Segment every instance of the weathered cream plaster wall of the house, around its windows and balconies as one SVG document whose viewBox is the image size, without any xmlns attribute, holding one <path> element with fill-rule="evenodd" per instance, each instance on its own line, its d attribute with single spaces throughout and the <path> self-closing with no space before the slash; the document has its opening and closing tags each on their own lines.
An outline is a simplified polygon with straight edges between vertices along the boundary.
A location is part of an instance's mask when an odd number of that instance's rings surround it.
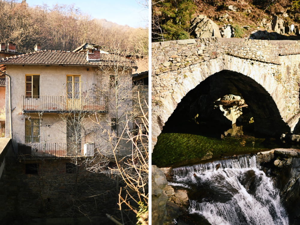
<svg viewBox="0 0 300 225">
<path fill-rule="evenodd" d="M 40 75 L 40 96 L 64 96 L 66 95 L 67 75 L 80 75 L 82 93 L 88 92 L 93 88 L 93 84 L 98 87 L 102 86 L 103 76 L 97 72 L 97 67 L 80 67 L 80 66 L 37 66 L 37 65 L 7 65 L 6 73 L 10 75 L 6 77 L 6 137 L 10 137 L 10 94 L 11 94 L 11 122 L 12 122 L 12 141 L 15 150 L 18 149 L 18 143 L 25 143 L 25 120 L 30 117 L 38 119 L 38 113 L 23 112 L 23 97 L 25 95 L 25 75 Z M 128 73 L 131 77 L 131 73 Z M 89 95 L 92 95 L 90 93 Z M 131 103 L 132 104 L 132 103 Z M 65 143 L 66 142 L 66 126 L 64 121 L 60 119 L 60 113 L 44 113 L 42 125 L 44 133 L 40 129 L 40 141 L 47 140 L 47 143 Z M 92 117 L 93 118 L 93 117 Z M 94 118 L 95 120 L 95 118 Z M 88 125 L 88 123 L 90 125 Z M 91 120 L 86 119 L 87 126 L 91 125 Z M 49 125 L 49 126 L 48 126 Z M 105 123 L 101 123 L 107 130 L 111 128 Z M 120 128 L 121 129 L 121 128 Z M 84 135 L 84 134 L 83 134 Z M 85 142 L 93 141 L 89 137 L 83 136 Z"/>
</svg>

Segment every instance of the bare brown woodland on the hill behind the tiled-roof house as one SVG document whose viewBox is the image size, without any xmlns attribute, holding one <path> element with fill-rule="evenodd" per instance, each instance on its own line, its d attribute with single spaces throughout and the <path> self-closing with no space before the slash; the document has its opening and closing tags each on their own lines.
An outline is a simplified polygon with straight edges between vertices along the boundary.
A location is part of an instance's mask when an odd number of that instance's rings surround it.
<svg viewBox="0 0 300 225">
<path fill-rule="evenodd" d="M 16 43 L 19 52 L 32 51 L 36 43 L 42 50 L 73 51 L 82 43 L 109 46 L 115 40 L 122 49 L 148 55 L 148 27 L 94 19 L 74 4 L 30 7 L 26 0 L 0 0 L 0 21 L 0 41 Z"/>
</svg>

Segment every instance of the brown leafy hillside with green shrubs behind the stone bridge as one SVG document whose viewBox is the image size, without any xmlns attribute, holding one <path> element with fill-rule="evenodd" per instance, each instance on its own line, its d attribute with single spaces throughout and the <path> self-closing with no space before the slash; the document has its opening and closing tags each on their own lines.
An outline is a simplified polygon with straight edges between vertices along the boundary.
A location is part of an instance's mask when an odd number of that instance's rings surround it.
<svg viewBox="0 0 300 225">
<path fill-rule="evenodd" d="M 272 19 L 279 15 L 285 26 L 295 26 L 293 38 L 299 39 L 300 0 L 152 0 L 152 42 L 195 38 L 190 21 L 197 15 L 219 28 L 230 23 L 238 38 L 257 30 L 271 32 Z"/>
</svg>

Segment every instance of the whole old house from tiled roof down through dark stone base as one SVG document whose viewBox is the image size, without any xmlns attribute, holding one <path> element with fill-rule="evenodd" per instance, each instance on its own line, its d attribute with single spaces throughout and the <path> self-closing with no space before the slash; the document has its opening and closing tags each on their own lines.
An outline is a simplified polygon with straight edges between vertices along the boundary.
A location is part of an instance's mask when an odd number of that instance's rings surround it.
<svg viewBox="0 0 300 225">
<path fill-rule="evenodd" d="M 116 181 L 82 165 L 77 168 L 70 156 L 101 158 L 98 153 L 105 152 L 95 136 L 76 122 L 80 113 L 84 113 L 85 124 L 93 123 L 95 113 L 107 117 L 112 123 L 101 123 L 102 128 L 116 132 L 107 96 L 93 92 L 107 76 L 98 73 L 98 67 L 114 61 L 137 67 L 98 46 L 89 46 L 85 52 L 64 52 L 41 50 L 37 44 L 35 52 L 0 61 L 6 69 L 2 71 L 6 77 L 5 137 L 12 140 L 0 180 L 0 202 L 5 205 L 0 208 L 0 221 L 73 218 L 82 216 L 80 210 L 98 217 L 112 212 L 118 194 L 112 191 Z M 126 76 L 132 79 L 131 70 Z M 79 210 L 75 202 L 89 208 Z"/>
</svg>

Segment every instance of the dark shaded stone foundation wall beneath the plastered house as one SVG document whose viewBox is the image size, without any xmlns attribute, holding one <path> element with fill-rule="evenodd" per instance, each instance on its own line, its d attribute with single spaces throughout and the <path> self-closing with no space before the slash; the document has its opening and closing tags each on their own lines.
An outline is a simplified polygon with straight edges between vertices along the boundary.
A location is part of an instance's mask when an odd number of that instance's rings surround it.
<svg viewBox="0 0 300 225">
<path fill-rule="evenodd" d="M 70 161 L 45 160 L 41 168 L 39 161 L 42 173 L 38 176 L 25 173 L 24 161 L 8 157 L 0 180 L 0 221 L 11 224 L 30 218 L 74 218 L 82 217 L 83 213 L 88 216 L 112 213 L 116 181 L 81 167 L 76 196 L 76 173 L 66 173 L 67 162 Z"/>
</svg>

